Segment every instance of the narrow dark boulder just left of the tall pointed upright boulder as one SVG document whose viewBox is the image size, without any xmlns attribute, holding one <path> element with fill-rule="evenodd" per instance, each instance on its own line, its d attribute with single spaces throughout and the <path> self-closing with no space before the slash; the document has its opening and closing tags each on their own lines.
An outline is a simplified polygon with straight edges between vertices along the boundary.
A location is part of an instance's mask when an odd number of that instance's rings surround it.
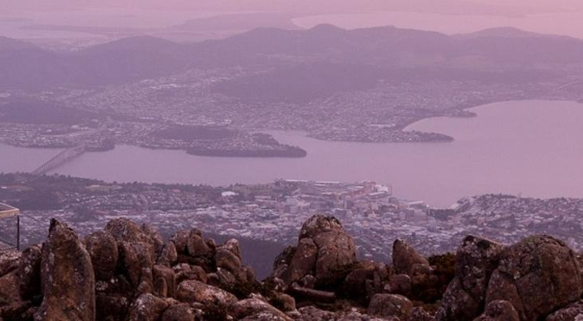
<svg viewBox="0 0 583 321">
<path fill-rule="evenodd" d="M 40 245 L 33 245 L 22 252 L 22 258 L 18 264 L 18 280 L 20 296 L 23 299 L 32 299 L 40 295 L 40 267 L 42 252 Z"/>
</svg>

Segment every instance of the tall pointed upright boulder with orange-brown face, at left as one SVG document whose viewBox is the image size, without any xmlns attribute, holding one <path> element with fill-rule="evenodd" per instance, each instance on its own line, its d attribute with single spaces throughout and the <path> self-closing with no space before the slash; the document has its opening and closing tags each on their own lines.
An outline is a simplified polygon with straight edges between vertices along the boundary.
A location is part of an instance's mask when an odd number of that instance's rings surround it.
<svg viewBox="0 0 583 321">
<path fill-rule="evenodd" d="M 95 275 L 91 257 L 76 233 L 51 219 L 41 260 L 43 303 L 35 320 L 95 319 Z"/>
</svg>

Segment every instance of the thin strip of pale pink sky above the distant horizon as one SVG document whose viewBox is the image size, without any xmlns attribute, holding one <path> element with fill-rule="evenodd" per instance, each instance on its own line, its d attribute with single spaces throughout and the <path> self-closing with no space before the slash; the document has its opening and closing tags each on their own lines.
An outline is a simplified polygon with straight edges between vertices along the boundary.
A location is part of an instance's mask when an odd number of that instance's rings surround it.
<svg viewBox="0 0 583 321">
<path fill-rule="evenodd" d="M 583 9 L 581 0 L 0 0 L 0 6 L 13 9 L 189 9 L 189 10 L 283 10 L 283 11 L 496 11 L 540 12 L 557 9 Z M 496 8 L 498 7 L 498 8 Z M 518 8 L 517 8 L 518 7 Z"/>
</svg>

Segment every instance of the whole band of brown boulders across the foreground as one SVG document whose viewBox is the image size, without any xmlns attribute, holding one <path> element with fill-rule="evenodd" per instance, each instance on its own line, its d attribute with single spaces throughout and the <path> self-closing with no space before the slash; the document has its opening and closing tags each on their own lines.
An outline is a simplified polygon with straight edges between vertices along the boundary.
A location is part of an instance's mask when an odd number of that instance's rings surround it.
<svg viewBox="0 0 583 321">
<path fill-rule="evenodd" d="M 237 240 L 165 243 L 125 218 L 79 239 L 53 219 L 43 245 L 0 256 L 0 320 L 583 320 L 581 260 L 550 236 L 468 236 L 429 259 L 396 240 L 392 259 L 358 261 L 340 222 L 316 215 L 260 282 Z"/>
</svg>

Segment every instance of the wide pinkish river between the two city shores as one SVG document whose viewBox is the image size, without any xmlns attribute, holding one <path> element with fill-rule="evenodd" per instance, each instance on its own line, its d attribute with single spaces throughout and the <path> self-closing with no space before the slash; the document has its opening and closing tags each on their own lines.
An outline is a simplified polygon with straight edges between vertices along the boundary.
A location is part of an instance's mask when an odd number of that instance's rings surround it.
<svg viewBox="0 0 583 321">
<path fill-rule="evenodd" d="M 451 135 L 454 142 L 375 144 L 328 142 L 275 132 L 308 156 L 212 158 L 182 151 L 117 146 L 85 153 L 57 169 L 65 175 L 117 182 L 264 183 L 276 178 L 392 184 L 394 193 L 444 207 L 463 196 L 510 193 L 583 197 L 583 104 L 518 101 L 472 109 L 473 118 L 429 118 L 409 130 Z M 54 149 L 0 145 L 0 172 L 30 171 Z"/>
</svg>

